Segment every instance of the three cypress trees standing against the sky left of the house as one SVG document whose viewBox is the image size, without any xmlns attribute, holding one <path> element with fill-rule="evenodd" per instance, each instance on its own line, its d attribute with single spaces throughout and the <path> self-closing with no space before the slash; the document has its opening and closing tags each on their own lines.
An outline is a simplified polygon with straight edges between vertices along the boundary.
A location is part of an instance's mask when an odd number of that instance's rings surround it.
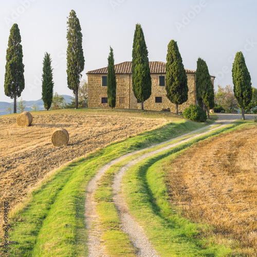
<svg viewBox="0 0 257 257">
<path fill-rule="evenodd" d="M 75 106 L 78 108 L 79 84 L 84 70 L 84 55 L 82 48 L 82 33 L 79 19 L 74 10 L 71 10 L 67 21 L 67 84 L 75 94 Z M 42 100 L 48 110 L 53 97 L 53 75 L 51 58 L 45 53 L 42 74 Z M 14 99 L 13 113 L 16 113 L 16 99 L 21 96 L 25 88 L 23 51 L 21 34 L 17 24 L 10 30 L 6 53 L 5 95 Z"/>
</svg>

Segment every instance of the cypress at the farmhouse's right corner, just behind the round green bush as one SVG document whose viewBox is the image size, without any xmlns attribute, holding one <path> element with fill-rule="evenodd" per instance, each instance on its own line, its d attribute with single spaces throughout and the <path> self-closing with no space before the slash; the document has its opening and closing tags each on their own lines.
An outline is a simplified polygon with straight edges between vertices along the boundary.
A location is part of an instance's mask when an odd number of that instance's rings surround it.
<svg viewBox="0 0 257 257">
<path fill-rule="evenodd" d="M 211 76 L 209 74 L 208 66 L 206 62 L 201 58 L 198 58 L 197 60 L 195 84 L 196 99 L 198 105 L 201 108 L 205 107 L 208 118 L 210 118 L 209 109 L 212 109 L 214 107 L 214 88 L 211 81 Z"/>
</svg>

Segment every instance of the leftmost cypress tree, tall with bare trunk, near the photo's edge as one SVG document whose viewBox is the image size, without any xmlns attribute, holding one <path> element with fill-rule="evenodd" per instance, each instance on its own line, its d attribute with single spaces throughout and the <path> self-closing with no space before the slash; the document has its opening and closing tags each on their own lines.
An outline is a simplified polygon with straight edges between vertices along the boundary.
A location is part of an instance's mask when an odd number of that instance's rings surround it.
<svg viewBox="0 0 257 257">
<path fill-rule="evenodd" d="M 13 113 L 17 111 L 16 100 L 25 87 L 21 34 L 17 24 L 10 30 L 5 66 L 5 95 L 14 99 Z"/>
</svg>

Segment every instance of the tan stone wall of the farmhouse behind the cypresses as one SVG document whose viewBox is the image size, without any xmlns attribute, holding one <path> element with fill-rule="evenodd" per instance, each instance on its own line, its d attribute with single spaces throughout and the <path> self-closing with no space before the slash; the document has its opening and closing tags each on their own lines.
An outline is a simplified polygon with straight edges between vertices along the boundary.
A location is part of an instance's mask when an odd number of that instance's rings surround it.
<svg viewBox="0 0 257 257">
<path fill-rule="evenodd" d="M 102 86 L 102 76 L 100 74 L 88 74 L 88 107 L 89 108 L 108 108 L 108 103 L 101 103 L 102 97 L 107 97 L 107 86 Z M 159 85 L 159 76 L 166 77 L 165 74 L 152 74 L 152 95 L 144 102 L 144 109 L 161 111 L 163 108 L 170 108 L 175 112 L 175 104 L 171 103 L 166 97 L 165 86 Z M 195 104 L 195 76 L 187 74 L 188 77 L 188 101 L 178 105 L 178 111 L 182 112 L 189 104 Z M 132 89 L 132 75 L 116 75 L 116 108 L 140 109 L 141 103 L 137 103 Z M 156 103 L 155 98 L 161 97 L 162 102 Z"/>
</svg>

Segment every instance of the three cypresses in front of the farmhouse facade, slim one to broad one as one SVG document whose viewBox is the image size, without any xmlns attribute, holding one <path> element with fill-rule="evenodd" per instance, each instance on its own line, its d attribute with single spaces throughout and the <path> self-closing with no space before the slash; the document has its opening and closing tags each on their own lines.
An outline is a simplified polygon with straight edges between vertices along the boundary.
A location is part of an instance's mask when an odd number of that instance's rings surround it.
<svg viewBox="0 0 257 257">
<path fill-rule="evenodd" d="M 113 49 L 111 47 L 110 49 L 107 70 L 107 95 L 108 105 L 113 108 L 116 105 L 116 77 Z M 148 49 L 140 24 L 136 24 L 133 40 L 132 86 L 134 95 L 141 102 L 141 109 L 143 110 L 143 102 L 149 99 L 152 94 L 152 78 L 149 67 Z M 166 90 L 168 99 L 176 104 L 176 113 L 178 113 L 178 104 L 182 104 L 188 100 L 188 81 L 177 42 L 174 40 L 168 45 Z"/>
</svg>

